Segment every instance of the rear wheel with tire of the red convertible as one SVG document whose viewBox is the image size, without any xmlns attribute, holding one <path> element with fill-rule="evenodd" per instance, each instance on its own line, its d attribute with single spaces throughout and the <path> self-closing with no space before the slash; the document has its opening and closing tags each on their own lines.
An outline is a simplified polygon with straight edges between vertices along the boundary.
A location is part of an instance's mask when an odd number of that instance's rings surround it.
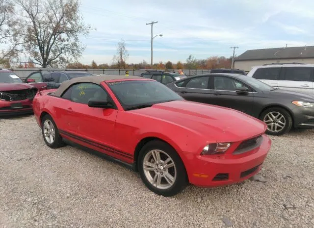
<svg viewBox="0 0 314 228">
<path fill-rule="evenodd" d="M 50 115 L 45 115 L 41 124 L 44 141 L 50 148 L 59 148 L 64 146 L 59 130 Z"/>
</svg>

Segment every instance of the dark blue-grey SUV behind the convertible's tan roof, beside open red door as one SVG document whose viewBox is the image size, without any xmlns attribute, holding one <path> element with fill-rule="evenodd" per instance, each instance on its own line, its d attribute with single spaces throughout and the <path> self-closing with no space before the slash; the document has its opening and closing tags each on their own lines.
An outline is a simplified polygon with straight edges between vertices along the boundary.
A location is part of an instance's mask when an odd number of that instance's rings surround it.
<svg viewBox="0 0 314 228">
<path fill-rule="evenodd" d="M 92 76 L 86 72 L 79 71 L 36 71 L 26 77 L 26 83 L 46 82 L 48 89 L 58 88 L 63 81 L 70 80 L 75 77 Z"/>
</svg>

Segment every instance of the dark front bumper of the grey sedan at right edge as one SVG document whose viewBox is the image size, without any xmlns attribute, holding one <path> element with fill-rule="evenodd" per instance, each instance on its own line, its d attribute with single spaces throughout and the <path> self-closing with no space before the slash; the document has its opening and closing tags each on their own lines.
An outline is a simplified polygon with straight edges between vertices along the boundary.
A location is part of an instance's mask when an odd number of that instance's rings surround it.
<svg viewBox="0 0 314 228">
<path fill-rule="evenodd" d="M 297 107 L 293 110 L 294 127 L 314 128 L 314 108 Z"/>
</svg>

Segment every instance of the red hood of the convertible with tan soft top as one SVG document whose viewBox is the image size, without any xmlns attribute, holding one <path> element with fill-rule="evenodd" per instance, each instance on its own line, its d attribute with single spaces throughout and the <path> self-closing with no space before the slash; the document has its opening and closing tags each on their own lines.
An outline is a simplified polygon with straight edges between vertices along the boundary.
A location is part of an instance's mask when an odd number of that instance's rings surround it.
<svg viewBox="0 0 314 228">
<path fill-rule="evenodd" d="M 242 112 L 192 101 L 158 103 L 131 112 L 170 122 L 217 142 L 241 141 L 266 130 L 262 121 Z"/>
</svg>

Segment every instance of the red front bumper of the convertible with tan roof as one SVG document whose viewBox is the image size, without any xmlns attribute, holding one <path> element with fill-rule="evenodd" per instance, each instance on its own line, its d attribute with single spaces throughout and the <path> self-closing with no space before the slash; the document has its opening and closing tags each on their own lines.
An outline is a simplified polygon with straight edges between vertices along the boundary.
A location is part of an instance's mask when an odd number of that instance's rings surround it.
<svg viewBox="0 0 314 228">
<path fill-rule="evenodd" d="M 193 154 L 187 168 L 189 182 L 199 187 L 215 187 L 234 184 L 257 174 L 262 168 L 271 140 L 263 135 L 260 147 L 244 154 L 224 156 L 204 156 Z"/>
</svg>

